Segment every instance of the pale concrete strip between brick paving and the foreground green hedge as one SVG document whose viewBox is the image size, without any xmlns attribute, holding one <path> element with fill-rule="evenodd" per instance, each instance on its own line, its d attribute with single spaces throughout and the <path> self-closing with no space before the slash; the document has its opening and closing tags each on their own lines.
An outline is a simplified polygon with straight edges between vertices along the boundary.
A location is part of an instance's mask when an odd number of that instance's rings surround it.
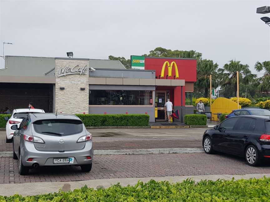
<svg viewBox="0 0 270 202">
<path fill-rule="evenodd" d="M 181 182 L 186 179 L 192 179 L 195 182 L 200 180 L 235 180 L 238 179 L 250 179 L 250 178 L 262 178 L 269 177 L 270 174 L 246 174 L 246 175 L 204 175 L 204 176 L 165 176 L 165 177 L 143 177 L 143 178 L 114 178 L 114 179 L 96 179 L 96 180 L 84 180 L 84 181 L 66 181 L 66 182 L 32 182 L 22 184 L 0 184 L 0 195 L 11 196 L 14 194 L 26 195 L 38 195 L 46 193 L 58 192 L 58 190 L 68 191 L 74 189 L 80 189 L 84 185 L 90 188 L 108 188 L 111 185 L 120 183 L 122 186 L 136 185 L 138 181 L 148 182 L 149 180 L 156 181 L 169 181 L 170 183 Z M 27 190 L 27 191 L 25 191 Z"/>
</svg>

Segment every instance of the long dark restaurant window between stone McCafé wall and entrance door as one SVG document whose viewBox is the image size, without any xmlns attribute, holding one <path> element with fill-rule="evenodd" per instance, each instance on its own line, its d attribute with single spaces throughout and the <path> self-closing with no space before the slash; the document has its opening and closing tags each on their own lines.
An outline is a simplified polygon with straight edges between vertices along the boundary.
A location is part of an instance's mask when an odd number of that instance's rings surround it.
<svg viewBox="0 0 270 202">
<path fill-rule="evenodd" d="M 89 90 L 89 105 L 152 104 L 152 90 Z"/>
</svg>

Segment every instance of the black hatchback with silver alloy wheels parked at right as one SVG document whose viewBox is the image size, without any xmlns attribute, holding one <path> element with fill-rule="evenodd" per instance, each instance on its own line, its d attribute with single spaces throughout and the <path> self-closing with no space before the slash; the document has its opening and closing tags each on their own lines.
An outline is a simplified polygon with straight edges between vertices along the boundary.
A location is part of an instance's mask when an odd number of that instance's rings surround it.
<svg viewBox="0 0 270 202">
<path fill-rule="evenodd" d="M 250 166 L 270 159 L 270 118 L 268 116 L 236 116 L 204 132 L 205 153 L 214 151 L 244 156 Z"/>
</svg>

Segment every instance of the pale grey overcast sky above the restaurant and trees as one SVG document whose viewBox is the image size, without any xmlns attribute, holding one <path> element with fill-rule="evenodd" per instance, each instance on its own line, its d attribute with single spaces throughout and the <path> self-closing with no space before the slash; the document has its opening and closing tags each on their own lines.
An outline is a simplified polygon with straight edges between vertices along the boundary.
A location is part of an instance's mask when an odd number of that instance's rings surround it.
<svg viewBox="0 0 270 202">
<path fill-rule="evenodd" d="M 222 67 L 270 60 L 270 27 L 256 14 L 268 1 L 0 0 L 5 55 L 108 59 L 156 47 L 196 50 Z M 3 60 L 1 58 L 1 66 Z"/>
</svg>

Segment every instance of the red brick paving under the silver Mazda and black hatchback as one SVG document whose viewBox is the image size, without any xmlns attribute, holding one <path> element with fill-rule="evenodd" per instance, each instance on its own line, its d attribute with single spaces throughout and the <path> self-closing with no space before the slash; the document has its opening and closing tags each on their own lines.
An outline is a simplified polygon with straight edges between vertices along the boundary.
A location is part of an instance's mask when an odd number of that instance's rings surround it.
<svg viewBox="0 0 270 202">
<path fill-rule="evenodd" d="M 218 174 L 270 173 L 270 163 L 252 167 L 242 158 L 205 153 L 95 156 L 90 173 L 76 166 L 50 166 L 31 169 L 28 176 L 18 174 L 18 161 L 0 158 L 0 183 L 75 181 L 108 178 L 161 177 Z"/>
</svg>

